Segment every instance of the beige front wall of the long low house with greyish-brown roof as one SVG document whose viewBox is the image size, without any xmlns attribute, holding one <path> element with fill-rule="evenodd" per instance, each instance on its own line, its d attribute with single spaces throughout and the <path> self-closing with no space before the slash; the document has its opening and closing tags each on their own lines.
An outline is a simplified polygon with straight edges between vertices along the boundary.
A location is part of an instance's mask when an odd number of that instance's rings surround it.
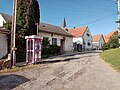
<svg viewBox="0 0 120 90">
<path fill-rule="evenodd" d="M 57 45 L 60 46 L 60 41 L 65 37 L 65 51 L 73 51 L 73 37 L 68 37 L 68 36 L 62 36 L 62 35 L 57 35 L 57 34 L 50 34 L 50 33 L 45 33 L 45 32 L 40 32 L 39 36 L 41 37 L 49 37 L 50 44 L 52 44 L 52 38 L 57 38 Z"/>
</svg>

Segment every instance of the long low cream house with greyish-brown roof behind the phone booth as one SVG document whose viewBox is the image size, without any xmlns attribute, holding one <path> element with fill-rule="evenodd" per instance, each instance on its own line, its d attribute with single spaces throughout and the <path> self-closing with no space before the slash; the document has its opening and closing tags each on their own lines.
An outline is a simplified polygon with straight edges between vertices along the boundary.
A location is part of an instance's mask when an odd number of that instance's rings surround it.
<svg viewBox="0 0 120 90">
<path fill-rule="evenodd" d="M 73 51 L 73 35 L 59 26 L 40 23 L 39 36 L 48 38 L 51 45 L 60 46 L 63 52 Z"/>
</svg>

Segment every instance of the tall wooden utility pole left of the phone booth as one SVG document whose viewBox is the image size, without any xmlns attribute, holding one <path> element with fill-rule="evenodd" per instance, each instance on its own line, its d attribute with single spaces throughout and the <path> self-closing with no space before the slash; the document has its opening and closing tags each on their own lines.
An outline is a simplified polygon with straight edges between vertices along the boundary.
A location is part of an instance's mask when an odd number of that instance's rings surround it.
<svg viewBox="0 0 120 90">
<path fill-rule="evenodd" d="M 13 14 L 12 14 L 12 29 L 11 29 L 11 67 L 15 66 L 16 63 L 16 55 L 15 55 L 16 10 L 17 10 L 17 0 L 14 0 Z"/>
</svg>

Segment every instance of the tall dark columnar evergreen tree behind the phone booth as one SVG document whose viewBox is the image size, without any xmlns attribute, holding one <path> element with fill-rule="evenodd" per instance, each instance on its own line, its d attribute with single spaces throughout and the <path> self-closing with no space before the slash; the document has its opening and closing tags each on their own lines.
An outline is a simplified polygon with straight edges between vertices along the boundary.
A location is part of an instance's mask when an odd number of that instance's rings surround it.
<svg viewBox="0 0 120 90">
<path fill-rule="evenodd" d="M 18 0 L 16 23 L 16 57 L 17 61 L 25 60 L 25 36 L 36 35 L 39 23 L 39 4 L 37 0 Z"/>
</svg>

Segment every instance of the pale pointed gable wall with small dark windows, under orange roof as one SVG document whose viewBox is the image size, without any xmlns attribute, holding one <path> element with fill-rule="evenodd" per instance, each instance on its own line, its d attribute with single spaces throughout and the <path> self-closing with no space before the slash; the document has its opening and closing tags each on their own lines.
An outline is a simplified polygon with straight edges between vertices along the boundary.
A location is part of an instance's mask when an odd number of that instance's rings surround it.
<svg viewBox="0 0 120 90">
<path fill-rule="evenodd" d="M 87 36 L 87 33 L 90 36 Z M 90 33 L 90 30 L 87 28 L 86 32 L 84 33 L 83 40 L 85 42 L 85 50 L 92 50 L 92 35 Z M 90 43 L 91 45 L 89 46 L 87 43 Z"/>
</svg>

